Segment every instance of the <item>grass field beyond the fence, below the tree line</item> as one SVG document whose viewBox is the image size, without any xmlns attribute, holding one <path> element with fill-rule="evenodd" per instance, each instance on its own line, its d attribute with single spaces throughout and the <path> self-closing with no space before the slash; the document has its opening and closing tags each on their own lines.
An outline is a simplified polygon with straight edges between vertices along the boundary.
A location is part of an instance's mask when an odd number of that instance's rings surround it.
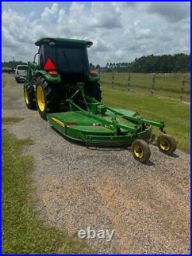
<svg viewBox="0 0 192 256">
<path fill-rule="evenodd" d="M 127 73 L 114 73 L 114 88 L 128 89 Z M 101 73 L 101 84 L 112 85 L 112 73 Z M 130 91 L 144 91 L 151 94 L 154 74 L 131 73 L 129 81 Z M 182 81 L 184 80 L 185 100 L 190 101 L 190 74 L 155 74 L 154 94 L 164 95 L 168 98 L 180 98 Z"/>
</svg>

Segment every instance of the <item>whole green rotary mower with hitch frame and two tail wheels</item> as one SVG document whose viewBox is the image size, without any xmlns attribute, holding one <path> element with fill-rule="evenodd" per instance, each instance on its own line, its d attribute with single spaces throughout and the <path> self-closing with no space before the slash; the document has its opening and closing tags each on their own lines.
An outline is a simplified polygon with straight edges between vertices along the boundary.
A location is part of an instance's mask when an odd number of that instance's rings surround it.
<svg viewBox="0 0 192 256">
<path fill-rule="evenodd" d="M 83 85 L 68 99 L 68 111 L 47 115 L 47 120 L 56 130 L 74 141 L 88 146 L 119 147 L 131 146 L 134 158 L 145 163 L 151 156 L 148 142 L 151 141 L 152 126 L 160 128 L 157 138 L 160 151 L 171 155 L 177 143 L 164 131 L 164 122 L 141 118 L 137 112 L 109 108 L 94 98 L 84 95 Z M 81 95 L 86 108 L 74 103 Z"/>
</svg>

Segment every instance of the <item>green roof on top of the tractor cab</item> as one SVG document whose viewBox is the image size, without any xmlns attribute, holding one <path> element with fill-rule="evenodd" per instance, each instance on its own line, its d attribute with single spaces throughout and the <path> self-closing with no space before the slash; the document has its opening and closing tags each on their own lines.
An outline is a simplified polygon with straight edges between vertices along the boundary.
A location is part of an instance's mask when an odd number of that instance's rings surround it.
<svg viewBox="0 0 192 256">
<path fill-rule="evenodd" d="M 37 42 L 35 42 L 36 46 L 43 45 L 45 43 L 49 42 L 58 42 L 59 44 L 65 44 L 65 43 L 73 43 L 73 44 L 81 44 L 81 45 L 87 45 L 88 47 L 91 47 L 93 45 L 90 41 L 85 40 L 78 40 L 78 39 L 70 39 L 70 38 L 40 38 Z"/>
</svg>

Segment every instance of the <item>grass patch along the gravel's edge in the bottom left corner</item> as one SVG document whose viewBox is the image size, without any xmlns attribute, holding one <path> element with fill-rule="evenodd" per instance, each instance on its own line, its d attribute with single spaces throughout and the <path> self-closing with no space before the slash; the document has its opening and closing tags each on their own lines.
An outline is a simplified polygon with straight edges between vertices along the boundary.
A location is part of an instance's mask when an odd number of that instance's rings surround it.
<svg viewBox="0 0 192 256">
<path fill-rule="evenodd" d="M 15 118 L 3 119 L 5 123 L 10 120 Z M 33 159 L 21 154 L 22 147 L 31 143 L 29 139 L 16 139 L 5 129 L 2 131 L 2 253 L 88 253 L 84 241 L 45 227 L 36 216 L 30 181 Z"/>
</svg>

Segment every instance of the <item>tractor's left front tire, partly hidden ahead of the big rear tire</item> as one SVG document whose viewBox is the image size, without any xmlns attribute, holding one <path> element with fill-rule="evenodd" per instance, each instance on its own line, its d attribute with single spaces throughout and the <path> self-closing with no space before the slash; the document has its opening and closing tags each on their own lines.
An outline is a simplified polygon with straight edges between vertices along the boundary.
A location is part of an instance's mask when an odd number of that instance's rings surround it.
<svg viewBox="0 0 192 256">
<path fill-rule="evenodd" d="M 29 83 L 25 83 L 23 86 L 25 104 L 28 109 L 35 110 L 36 102 L 35 102 L 35 89 Z"/>
</svg>

